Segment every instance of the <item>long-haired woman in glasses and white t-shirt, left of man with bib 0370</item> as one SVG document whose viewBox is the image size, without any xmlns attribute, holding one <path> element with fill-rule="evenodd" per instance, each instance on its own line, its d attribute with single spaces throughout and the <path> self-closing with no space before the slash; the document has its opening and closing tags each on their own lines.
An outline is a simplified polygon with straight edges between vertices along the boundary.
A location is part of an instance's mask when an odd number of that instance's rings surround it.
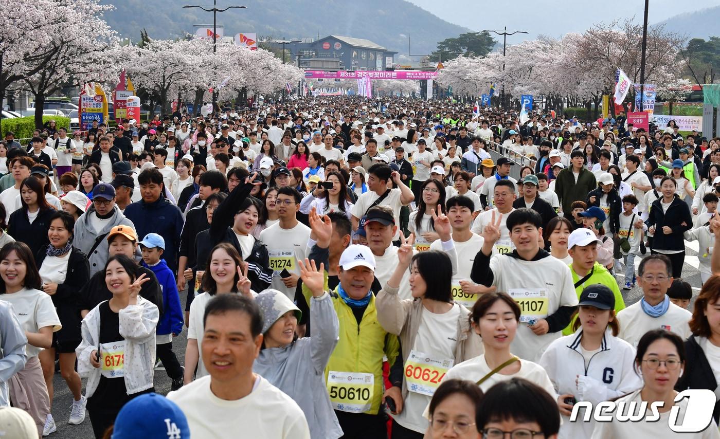
<svg viewBox="0 0 720 439">
<path fill-rule="evenodd" d="M 431 178 L 424 181 L 423 185 L 420 186 L 420 194 L 421 196 L 418 197 L 417 201 L 418 209 L 410 213 L 408 230 L 415 236 L 413 248 L 424 251 L 430 250 L 430 245 L 434 240 L 438 239 L 433 212 L 438 209 L 438 204 L 445 206 L 445 186 Z"/>
</svg>

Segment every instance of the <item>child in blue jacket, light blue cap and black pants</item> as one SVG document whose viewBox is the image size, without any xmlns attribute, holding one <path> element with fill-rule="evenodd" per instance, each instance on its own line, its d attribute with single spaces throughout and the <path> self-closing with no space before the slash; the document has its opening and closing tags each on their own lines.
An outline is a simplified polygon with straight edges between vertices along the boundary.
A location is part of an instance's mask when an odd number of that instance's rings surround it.
<svg viewBox="0 0 720 439">
<path fill-rule="evenodd" d="M 171 389 L 177 390 L 183 384 L 183 367 L 173 352 L 173 337 L 182 332 L 183 313 L 180 307 L 180 295 L 175 284 L 175 276 L 165 260 L 162 259 L 165 250 L 165 240 L 157 233 L 148 233 L 138 243 L 143 250 L 143 266 L 150 268 L 158 278 L 158 284 L 163 291 L 163 305 L 165 312 L 158 322 L 156 332 L 156 353 L 163 362 L 165 371 L 173 380 Z"/>
</svg>

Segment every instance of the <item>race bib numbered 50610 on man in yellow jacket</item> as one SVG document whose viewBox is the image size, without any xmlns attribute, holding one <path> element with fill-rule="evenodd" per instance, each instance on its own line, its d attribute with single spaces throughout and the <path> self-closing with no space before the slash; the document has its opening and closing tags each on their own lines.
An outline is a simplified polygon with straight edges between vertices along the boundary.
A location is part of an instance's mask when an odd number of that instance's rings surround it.
<svg viewBox="0 0 720 439">
<path fill-rule="evenodd" d="M 328 394 L 333 408 L 341 412 L 364 413 L 372 406 L 375 389 L 373 374 L 328 373 Z"/>
</svg>

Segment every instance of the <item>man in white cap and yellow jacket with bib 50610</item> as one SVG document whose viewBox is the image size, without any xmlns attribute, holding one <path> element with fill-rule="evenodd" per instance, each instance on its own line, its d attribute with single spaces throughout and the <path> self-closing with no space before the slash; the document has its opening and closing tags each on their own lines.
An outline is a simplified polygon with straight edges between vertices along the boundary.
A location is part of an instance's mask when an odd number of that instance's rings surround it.
<svg viewBox="0 0 720 439">
<path fill-rule="evenodd" d="M 385 438 L 382 358 L 387 357 L 392 365 L 400 343 L 377 323 L 371 291 L 375 279 L 372 250 L 350 245 L 340 256 L 337 270 L 340 284 L 330 299 L 340 321 L 340 339 L 325 367 L 330 403 L 345 433 L 343 438 Z M 303 285 L 302 293 L 312 307 L 310 289 Z M 360 389 L 356 397 L 341 397 L 351 388 Z"/>
</svg>

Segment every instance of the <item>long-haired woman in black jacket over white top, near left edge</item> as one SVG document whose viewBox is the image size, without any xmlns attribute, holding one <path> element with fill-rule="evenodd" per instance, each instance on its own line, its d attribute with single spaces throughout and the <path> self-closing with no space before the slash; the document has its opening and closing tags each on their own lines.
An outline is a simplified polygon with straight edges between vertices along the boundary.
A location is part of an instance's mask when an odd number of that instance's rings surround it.
<svg viewBox="0 0 720 439">
<path fill-rule="evenodd" d="M 10 214 L 7 232 L 15 240 L 26 243 L 33 255 L 42 245 L 50 243 L 48 229 L 50 217 L 55 213 L 45 199 L 45 189 L 34 176 L 25 178 L 20 184 L 22 207 Z"/>
</svg>

